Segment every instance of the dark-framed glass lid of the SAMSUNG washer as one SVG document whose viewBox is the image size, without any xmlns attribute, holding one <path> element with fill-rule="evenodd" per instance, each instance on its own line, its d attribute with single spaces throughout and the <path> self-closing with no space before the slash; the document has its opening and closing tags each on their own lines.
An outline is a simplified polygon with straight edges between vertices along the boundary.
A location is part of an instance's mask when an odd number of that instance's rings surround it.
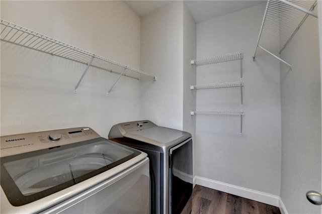
<svg viewBox="0 0 322 214">
<path fill-rule="evenodd" d="M 1 187 L 12 205 L 21 206 L 92 178 L 140 154 L 132 148 L 97 138 L 2 157 Z M 106 179 L 112 176 L 114 174 L 109 174 Z"/>
</svg>

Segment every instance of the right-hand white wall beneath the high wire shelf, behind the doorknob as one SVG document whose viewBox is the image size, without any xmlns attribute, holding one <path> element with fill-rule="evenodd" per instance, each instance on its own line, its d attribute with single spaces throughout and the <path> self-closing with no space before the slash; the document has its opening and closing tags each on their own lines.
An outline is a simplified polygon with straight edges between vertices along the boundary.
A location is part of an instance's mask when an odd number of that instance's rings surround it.
<svg viewBox="0 0 322 214">
<path fill-rule="evenodd" d="M 320 207 L 305 197 L 308 190 L 321 190 L 321 37 L 317 26 L 317 19 L 308 16 L 281 53 L 292 65 L 289 72 L 281 66 L 281 199 L 288 213 L 320 213 Z"/>
</svg>

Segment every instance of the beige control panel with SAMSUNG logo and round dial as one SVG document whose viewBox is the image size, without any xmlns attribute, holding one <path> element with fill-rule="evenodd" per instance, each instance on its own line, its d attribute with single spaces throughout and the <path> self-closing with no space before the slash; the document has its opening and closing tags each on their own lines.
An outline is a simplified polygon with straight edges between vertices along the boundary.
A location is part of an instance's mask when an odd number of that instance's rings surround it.
<svg viewBox="0 0 322 214">
<path fill-rule="evenodd" d="M 51 149 L 99 137 L 101 136 L 89 127 L 2 136 L 0 138 L 0 154 L 1 157 L 5 157 L 41 149 Z"/>
</svg>

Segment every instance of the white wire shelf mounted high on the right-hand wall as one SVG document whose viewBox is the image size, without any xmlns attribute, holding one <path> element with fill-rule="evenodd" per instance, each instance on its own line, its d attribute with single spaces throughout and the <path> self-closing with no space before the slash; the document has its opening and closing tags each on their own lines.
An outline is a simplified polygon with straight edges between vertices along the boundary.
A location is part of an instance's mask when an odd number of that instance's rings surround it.
<svg viewBox="0 0 322 214">
<path fill-rule="evenodd" d="M 260 48 L 291 68 L 273 53 L 284 50 L 309 15 L 317 18 L 312 13 L 316 4 L 317 1 L 268 0 L 253 59 Z"/>
</svg>

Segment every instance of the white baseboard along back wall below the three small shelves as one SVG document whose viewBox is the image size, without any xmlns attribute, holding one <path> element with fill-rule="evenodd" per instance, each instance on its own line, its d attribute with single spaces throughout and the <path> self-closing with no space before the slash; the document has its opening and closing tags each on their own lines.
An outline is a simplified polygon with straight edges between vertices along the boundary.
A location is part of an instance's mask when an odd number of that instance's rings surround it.
<svg viewBox="0 0 322 214">
<path fill-rule="evenodd" d="M 196 179 L 196 184 L 198 185 L 216 189 L 222 192 L 227 192 L 229 194 L 234 194 L 240 197 L 245 197 L 251 200 L 256 200 L 262 203 L 266 203 L 266 204 L 270 204 L 278 207 L 280 203 L 283 204 L 283 202 L 280 200 L 280 197 L 277 195 L 273 195 L 266 192 L 253 190 L 253 189 L 248 189 L 245 187 L 235 186 L 235 185 L 220 182 L 220 181 L 210 180 L 208 178 L 203 178 L 199 176 L 195 176 L 195 179 Z M 284 210 L 286 211 L 286 209 Z M 287 212 L 285 212 L 285 214 L 287 214 Z"/>
</svg>

